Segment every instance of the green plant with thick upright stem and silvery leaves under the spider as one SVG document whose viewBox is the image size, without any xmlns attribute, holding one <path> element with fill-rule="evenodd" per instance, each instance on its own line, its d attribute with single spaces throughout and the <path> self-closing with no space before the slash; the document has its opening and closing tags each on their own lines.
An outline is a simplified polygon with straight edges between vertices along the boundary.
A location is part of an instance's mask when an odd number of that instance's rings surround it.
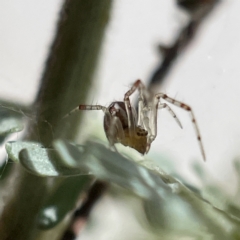
<svg viewBox="0 0 240 240">
<path fill-rule="evenodd" d="M 18 164 L 4 171 L 0 183 L 7 195 L 0 239 L 61 239 L 69 213 L 95 179 L 141 199 L 152 239 L 240 239 L 239 201 L 207 181 L 198 165 L 194 169 L 203 187 L 193 189 L 149 159 L 119 154 L 98 142 L 74 143 L 80 115 L 68 124 L 62 117 L 87 96 L 110 5 L 110 0 L 63 5 L 40 91 L 33 110 L 26 110 L 34 121 L 28 121 L 22 141 L 5 144 L 8 158 Z M 13 109 L 0 113 L 2 143 L 26 124 Z M 9 165 L 3 164 L 1 172 Z M 239 177 L 239 162 L 235 167 Z"/>
</svg>

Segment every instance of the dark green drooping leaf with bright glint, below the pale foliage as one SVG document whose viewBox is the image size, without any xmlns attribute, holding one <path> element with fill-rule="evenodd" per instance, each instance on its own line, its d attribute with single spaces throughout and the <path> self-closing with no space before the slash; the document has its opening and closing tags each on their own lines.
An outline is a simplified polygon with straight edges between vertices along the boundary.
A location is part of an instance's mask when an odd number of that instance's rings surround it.
<svg viewBox="0 0 240 240">
<path fill-rule="evenodd" d="M 68 177 L 52 192 L 38 216 L 38 227 L 50 229 L 63 220 L 74 209 L 79 194 L 90 182 L 89 176 Z"/>
</svg>

